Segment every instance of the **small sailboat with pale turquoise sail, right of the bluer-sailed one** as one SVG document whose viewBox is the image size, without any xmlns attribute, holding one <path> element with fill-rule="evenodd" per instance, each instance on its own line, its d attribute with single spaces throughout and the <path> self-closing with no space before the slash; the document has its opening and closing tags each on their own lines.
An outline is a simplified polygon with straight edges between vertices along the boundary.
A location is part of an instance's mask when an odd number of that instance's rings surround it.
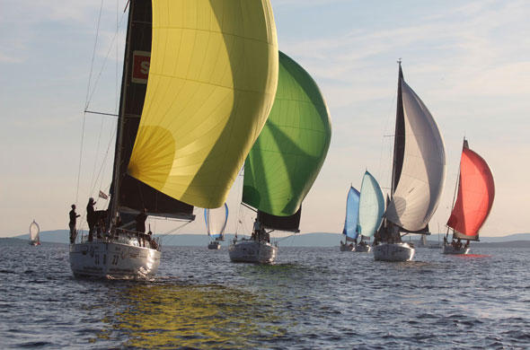
<svg viewBox="0 0 530 350">
<path fill-rule="evenodd" d="M 365 171 L 358 207 L 358 234 L 361 240 L 356 246 L 357 252 L 369 252 L 371 247 L 365 239 L 370 239 L 379 230 L 383 222 L 384 196 L 374 176 Z"/>
</svg>

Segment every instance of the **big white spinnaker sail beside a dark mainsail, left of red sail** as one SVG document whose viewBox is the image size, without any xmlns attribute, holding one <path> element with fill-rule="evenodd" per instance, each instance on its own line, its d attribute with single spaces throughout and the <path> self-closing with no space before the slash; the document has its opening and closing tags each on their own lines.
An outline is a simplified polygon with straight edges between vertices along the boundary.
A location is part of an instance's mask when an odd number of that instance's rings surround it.
<svg viewBox="0 0 530 350">
<path fill-rule="evenodd" d="M 386 218 L 405 230 L 425 228 L 446 179 L 446 150 L 437 123 L 420 97 L 402 81 L 405 151 L 402 173 Z"/>
</svg>

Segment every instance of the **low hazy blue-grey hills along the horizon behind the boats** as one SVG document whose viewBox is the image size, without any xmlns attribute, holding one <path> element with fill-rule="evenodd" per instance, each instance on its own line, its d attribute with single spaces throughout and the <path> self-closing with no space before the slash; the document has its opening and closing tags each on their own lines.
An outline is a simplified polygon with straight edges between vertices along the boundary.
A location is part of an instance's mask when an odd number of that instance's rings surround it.
<svg viewBox="0 0 530 350">
<path fill-rule="evenodd" d="M 86 232 L 85 232 L 86 234 Z M 174 234 L 174 235 L 157 235 L 162 237 L 163 245 L 168 246 L 203 246 L 207 245 L 209 238 L 205 234 Z M 418 242 L 420 236 L 412 235 L 411 241 Z M 428 243 L 434 244 L 438 242 L 437 233 L 433 233 L 428 236 Z M 21 234 L 18 236 L 10 237 L 20 240 L 28 240 L 29 234 Z M 443 235 L 440 234 L 440 240 Z M 234 239 L 234 234 L 228 233 L 225 235 L 225 242 L 223 245 L 227 245 L 229 241 Z M 296 234 L 291 237 L 281 239 L 281 246 L 283 247 L 334 247 L 340 244 L 340 240 L 343 240 L 343 236 L 340 233 L 329 233 L 329 232 L 312 232 L 304 234 Z M 408 237 L 404 237 L 403 240 L 408 240 Z M 68 243 L 68 231 L 67 230 L 55 230 L 55 231 L 43 231 L 40 232 L 40 241 L 42 242 L 53 242 L 53 243 Z M 481 237 L 480 242 L 473 242 L 473 245 L 477 246 L 496 246 L 496 247 L 530 247 L 530 233 L 515 233 L 509 234 L 502 237 Z"/>
</svg>

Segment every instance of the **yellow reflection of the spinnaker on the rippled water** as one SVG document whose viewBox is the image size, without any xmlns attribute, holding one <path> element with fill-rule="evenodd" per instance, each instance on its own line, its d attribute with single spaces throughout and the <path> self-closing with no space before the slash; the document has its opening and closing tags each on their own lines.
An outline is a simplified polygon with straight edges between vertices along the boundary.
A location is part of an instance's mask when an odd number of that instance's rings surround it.
<svg viewBox="0 0 530 350">
<path fill-rule="evenodd" d="M 218 285 L 137 284 L 121 297 L 103 321 L 127 339 L 122 346 L 252 347 L 287 333 L 273 300 Z"/>
</svg>

